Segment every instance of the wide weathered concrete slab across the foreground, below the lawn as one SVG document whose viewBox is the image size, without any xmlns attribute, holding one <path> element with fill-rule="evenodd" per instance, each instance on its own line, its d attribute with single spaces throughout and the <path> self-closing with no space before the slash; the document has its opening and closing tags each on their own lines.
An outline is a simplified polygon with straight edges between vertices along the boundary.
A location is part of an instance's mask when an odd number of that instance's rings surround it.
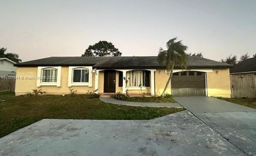
<svg viewBox="0 0 256 156">
<path fill-rule="evenodd" d="M 43 119 L 0 138 L 0 155 L 245 155 L 190 112 L 152 120 Z"/>
</svg>

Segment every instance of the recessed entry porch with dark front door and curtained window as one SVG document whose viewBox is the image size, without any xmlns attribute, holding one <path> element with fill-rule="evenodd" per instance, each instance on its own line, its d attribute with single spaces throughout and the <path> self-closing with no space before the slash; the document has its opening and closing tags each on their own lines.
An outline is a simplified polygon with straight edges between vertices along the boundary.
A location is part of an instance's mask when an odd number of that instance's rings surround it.
<svg viewBox="0 0 256 156">
<path fill-rule="evenodd" d="M 100 94 L 125 93 L 155 96 L 155 71 L 152 69 L 94 70 L 95 90 Z"/>
</svg>

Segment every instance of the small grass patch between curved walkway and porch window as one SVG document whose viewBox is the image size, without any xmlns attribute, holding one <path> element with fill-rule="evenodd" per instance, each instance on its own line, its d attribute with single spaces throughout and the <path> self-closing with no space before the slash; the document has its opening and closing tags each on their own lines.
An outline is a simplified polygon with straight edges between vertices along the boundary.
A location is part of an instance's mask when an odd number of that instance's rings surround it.
<svg viewBox="0 0 256 156">
<path fill-rule="evenodd" d="M 163 98 L 163 97 L 129 97 L 126 98 L 125 101 L 130 102 L 161 102 L 161 103 L 175 103 L 176 101 L 170 98 Z"/>
</svg>

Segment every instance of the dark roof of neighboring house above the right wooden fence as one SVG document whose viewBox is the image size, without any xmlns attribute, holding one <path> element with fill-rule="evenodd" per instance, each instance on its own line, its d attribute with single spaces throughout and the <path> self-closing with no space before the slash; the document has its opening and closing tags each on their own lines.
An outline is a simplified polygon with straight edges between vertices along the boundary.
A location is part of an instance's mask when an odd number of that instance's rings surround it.
<svg viewBox="0 0 256 156">
<path fill-rule="evenodd" d="M 256 71 L 256 57 L 248 58 L 230 68 L 230 73 L 244 73 Z"/>
</svg>

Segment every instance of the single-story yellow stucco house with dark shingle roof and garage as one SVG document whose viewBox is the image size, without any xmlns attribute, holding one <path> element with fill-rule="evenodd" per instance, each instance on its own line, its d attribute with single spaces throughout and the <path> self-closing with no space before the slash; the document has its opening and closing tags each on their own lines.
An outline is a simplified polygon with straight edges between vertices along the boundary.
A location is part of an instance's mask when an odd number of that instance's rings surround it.
<svg viewBox="0 0 256 156">
<path fill-rule="evenodd" d="M 159 96 L 169 73 L 157 56 L 141 57 L 49 57 L 16 64 L 15 94 L 42 89 L 49 94 L 94 91 L 100 94 L 145 92 Z M 174 96 L 230 97 L 231 65 L 196 56 L 188 57 L 188 70 L 175 66 L 172 85 L 166 90 Z M 39 77 L 40 79 L 35 79 Z M 126 81 L 127 84 L 126 84 Z M 141 84 L 141 87 L 140 87 Z"/>
</svg>

